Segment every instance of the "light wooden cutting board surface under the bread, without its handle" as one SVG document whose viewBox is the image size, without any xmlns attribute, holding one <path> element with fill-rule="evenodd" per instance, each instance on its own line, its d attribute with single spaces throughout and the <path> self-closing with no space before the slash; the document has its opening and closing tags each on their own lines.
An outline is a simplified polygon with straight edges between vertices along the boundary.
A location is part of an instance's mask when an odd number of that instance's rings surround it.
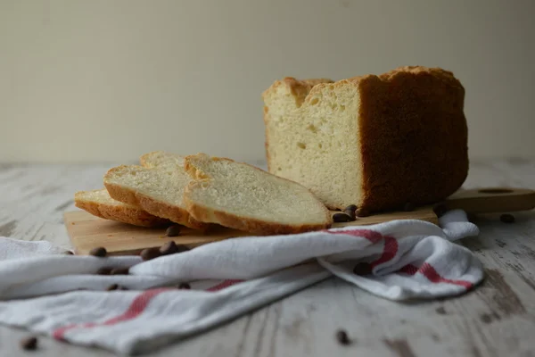
<svg viewBox="0 0 535 357">
<path fill-rule="evenodd" d="M 173 240 L 178 245 L 190 247 L 215 242 L 229 237 L 250 236 L 247 232 L 236 229 L 218 228 L 202 234 L 191 229 L 182 228 L 179 237 L 166 237 L 166 228 L 143 228 L 128 224 L 103 220 L 85 211 L 70 211 L 63 215 L 65 227 L 75 253 L 84 255 L 95 247 L 103 246 L 111 255 L 139 253 L 144 248 L 161 246 Z M 334 223 L 333 228 L 361 226 L 380 223 L 388 220 L 425 220 L 438 223 L 432 207 L 421 207 L 412 212 L 391 212 L 359 217 L 358 220 L 345 223 Z"/>
</svg>

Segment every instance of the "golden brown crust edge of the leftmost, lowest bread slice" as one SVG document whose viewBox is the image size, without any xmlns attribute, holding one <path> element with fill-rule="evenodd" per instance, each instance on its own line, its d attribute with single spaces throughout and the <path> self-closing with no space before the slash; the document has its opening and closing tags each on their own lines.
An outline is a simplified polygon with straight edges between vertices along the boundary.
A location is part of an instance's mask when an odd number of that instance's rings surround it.
<svg viewBox="0 0 535 357">
<path fill-rule="evenodd" d="M 165 226 L 170 223 L 169 220 L 153 216 L 148 212 L 136 209 L 135 207 L 128 207 L 127 205 L 108 205 L 77 198 L 75 198 L 74 204 L 79 209 L 89 212 L 96 217 L 128 223 L 134 226 L 152 228 Z"/>
</svg>

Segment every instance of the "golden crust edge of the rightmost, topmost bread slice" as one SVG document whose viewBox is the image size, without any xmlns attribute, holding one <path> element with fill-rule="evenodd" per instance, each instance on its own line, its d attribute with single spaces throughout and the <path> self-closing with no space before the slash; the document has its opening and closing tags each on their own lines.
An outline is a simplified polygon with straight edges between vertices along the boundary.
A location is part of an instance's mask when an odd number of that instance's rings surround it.
<svg viewBox="0 0 535 357">
<path fill-rule="evenodd" d="M 185 170 L 188 172 L 194 181 L 190 182 L 187 187 L 185 187 L 184 190 L 184 202 L 185 206 L 187 208 L 187 211 L 190 212 L 190 214 L 193 216 L 195 220 L 200 220 L 203 222 L 218 222 L 219 225 L 227 228 L 235 228 L 238 230 L 243 230 L 245 232 L 250 232 L 252 234 L 256 234 L 259 236 L 267 236 L 267 235 L 277 235 L 277 234 L 297 234 L 297 233 L 303 233 L 303 232 L 309 232 L 314 230 L 320 230 L 325 228 L 331 228 L 332 225 L 332 217 L 331 212 L 327 210 L 325 207 L 325 217 L 326 221 L 328 223 L 326 224 L 317 224 L 317 225 L 285 225 L 285 224 L 277 224 L 273 222 L 267 222 L 265 220 L 256 220 L 251 217 L 243 217 L 238 216 L 232 213 L 224 212 L 224 211 L 214 211 L 210 207 L 204 206 L 200 203 L 197 203 L 191 199 L 189 199 L 189 192 L 194 189 L 194 187 L 202 186 L 207 180 L 210 180 L 210 176 L 208 176 L 205 172 L 203 172 L 200 169 L 197 169 L 193 163 L 192 159 L 195 158 L 196 155 L 188 155 L 185 157 Z M 211 157 L 210 160 L 213 161 L 228 161 L 228 162 L 235 162 L 232 159 L 226 158 L 226 157 Z M 241 162 L 243 163 L 243 162 Z M 250 166 L 251 168 L 255 170 L 260 170 L 259 168 L 249 165 L 247 163 L 243 163 L 243 165 Z M 263 170 L 260 170 L 263 171 Z M 279 178 L 283 179 L 283 178 Z M 290 181 L 288 179 L 284 179 L 287 181 Z"/>
</svg>

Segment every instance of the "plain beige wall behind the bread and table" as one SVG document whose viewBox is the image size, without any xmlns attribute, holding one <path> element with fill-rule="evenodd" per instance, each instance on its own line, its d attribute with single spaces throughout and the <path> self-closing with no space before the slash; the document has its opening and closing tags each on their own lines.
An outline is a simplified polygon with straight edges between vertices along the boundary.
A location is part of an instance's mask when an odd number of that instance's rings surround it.
<svg viewBox="0 0 535 357">
<path fill-rule="evenodd" d="M 0 161 L 261 159 L 260 93 L 422 64 L 466 88 L 470 153 L 535 155 L 532 0 L 0 0 Z"/>
</svg>

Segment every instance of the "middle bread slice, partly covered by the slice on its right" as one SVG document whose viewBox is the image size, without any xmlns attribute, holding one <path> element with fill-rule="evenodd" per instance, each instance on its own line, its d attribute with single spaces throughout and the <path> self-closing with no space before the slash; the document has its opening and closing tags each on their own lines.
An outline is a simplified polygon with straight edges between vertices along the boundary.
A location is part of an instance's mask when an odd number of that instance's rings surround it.
<svg viewBox="0 0 535 357">
<path fill-rule="evenodd" d="M 111 198 L 142 208 L 155 216 L 186 227 L 206 229 L 210 225 L 194 220 L 185 210 L 184 187 L 191 180 L 184 169 L 148 169 L 120 165 L 104 175 L 104 187 Z"/>
</svg>

